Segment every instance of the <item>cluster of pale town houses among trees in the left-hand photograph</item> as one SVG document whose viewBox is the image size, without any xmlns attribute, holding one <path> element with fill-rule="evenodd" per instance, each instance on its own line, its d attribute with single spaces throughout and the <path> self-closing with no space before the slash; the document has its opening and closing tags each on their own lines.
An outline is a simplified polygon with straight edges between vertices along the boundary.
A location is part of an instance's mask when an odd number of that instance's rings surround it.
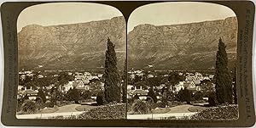
<svg viewBox="0 0 256 128">
<path fill-rule="evenodd" d="M 33 73 L 33 71 L 20 71 L 20 80 L 24 81 L 26 79 L 26 76 L 34 76 L 40 78 L 44 78 L 47 76 L 41 75 L 38 72 L 37 74 Z M 70 89 L 76 88 L 81 91 L 92 91 L 93 88 L 91 86 L 100 86 L 100 88 L 104 89 L 104 83 L 100 81 L 102 79 L 102 74 L 91 74 L 90 72 L 68 72 L 68 75 L 73 75 L 74 80 L 68 81 L 64 85 L 59 86 L 58 91 L 67 93 Z M 58 77 L 59 75 L 52 75 L 53 77 Z M 42 86 L 42 90 L 51 90 L 53 87 L 55 87 L 55 84 L 49 83 L 49 86 Z M 35 100 L 38 97 L 38 89 L 40 89 L 39 86 L 37 88 L 32 88 L 30 86 L 29 88 L 26 88 L 26 86 L 18 86 L 18 99 L 21 97 L 27 96 L 31 100 Z M 49 99 L 49 92 L 45 93 L 46 98 Z"/>
</svg>

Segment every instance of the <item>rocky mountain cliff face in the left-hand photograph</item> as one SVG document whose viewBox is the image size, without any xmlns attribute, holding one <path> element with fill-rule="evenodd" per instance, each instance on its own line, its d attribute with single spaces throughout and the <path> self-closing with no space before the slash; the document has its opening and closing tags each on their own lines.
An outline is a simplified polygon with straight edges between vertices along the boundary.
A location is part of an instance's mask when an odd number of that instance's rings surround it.
<svg viewBox="0 0 256 128">
<path fill-rule="evenodd" d="M 108 37 L 118 65 L 125 61 L 124 17 L 73 25 L 27 25 L 18 33 L 20 69 L 93 69 L 104 66 Z"/>
</svg>

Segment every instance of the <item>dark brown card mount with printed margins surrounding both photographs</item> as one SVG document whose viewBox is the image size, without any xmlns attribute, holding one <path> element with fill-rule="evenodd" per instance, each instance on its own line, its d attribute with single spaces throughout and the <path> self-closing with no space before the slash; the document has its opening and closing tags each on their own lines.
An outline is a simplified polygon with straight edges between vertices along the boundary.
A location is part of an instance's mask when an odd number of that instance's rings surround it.
<svg viewBox="0 0 256 128">
<path fill-rule="evenodd" d="M 20 12 L 40 3 L 102 3 L 118 8 L 129 18 L 132 10 L 148 3 L 177 1 L 58 1 L 58 2 L 6 2 L 1 5 L 4 50 L 3 125 L 38 126 L 252 126 L 255 123 L 253 106 L 253 19 L 255 7 L 251 1 L 181 1 L 218 3 L 231 8 L 238 19 L 237 33 L 237 93 L 239 106 L 238 120 L 18 120 L 16 119 L 16 94 L 18 84 L 18 48 L 16 22 Z M 250 12 L 250 14 L 248 14 Z M 249 25 L 248 25 L 249 24 Z M 127 29 L 127 28 L 126 28 Z M 127 30 L 126 30 L 127 31 Z M 247 42 L 240 44 L 241 31 L 247 31 Z M 126 38 L 127 47 L 127 38 Z M 126 52 L 127 55 L 127 52 Z M 238 64 L 238 62 L 241 62 Z"/>
</svg>

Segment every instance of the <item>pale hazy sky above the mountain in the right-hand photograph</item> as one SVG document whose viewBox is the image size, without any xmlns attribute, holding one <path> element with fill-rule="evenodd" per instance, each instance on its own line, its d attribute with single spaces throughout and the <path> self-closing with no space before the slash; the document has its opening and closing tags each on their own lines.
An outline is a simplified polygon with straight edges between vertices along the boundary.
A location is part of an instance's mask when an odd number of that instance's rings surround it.
<svg viewBox="0 0 256 128">
<path fill-rule="evenodd" d="M 128 31 L 141 24 L 174 25 L 236 16 L 228 7 L 214 3 L 154 3 L 137 8 L 128 20 Z"/>
</svg>

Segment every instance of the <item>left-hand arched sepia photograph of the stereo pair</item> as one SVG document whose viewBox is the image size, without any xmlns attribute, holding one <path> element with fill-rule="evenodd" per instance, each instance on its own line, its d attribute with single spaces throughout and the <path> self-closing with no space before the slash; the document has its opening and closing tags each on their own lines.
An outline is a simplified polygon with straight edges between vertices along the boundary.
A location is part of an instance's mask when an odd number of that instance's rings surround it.
<svg viewBox="0 0 256 128">
<path fill-rule="evenodd" d="M 125 27 L 104 4 L 25 8 L 17 19 L 16 118 L 125 119 Z"/>
</svg>

